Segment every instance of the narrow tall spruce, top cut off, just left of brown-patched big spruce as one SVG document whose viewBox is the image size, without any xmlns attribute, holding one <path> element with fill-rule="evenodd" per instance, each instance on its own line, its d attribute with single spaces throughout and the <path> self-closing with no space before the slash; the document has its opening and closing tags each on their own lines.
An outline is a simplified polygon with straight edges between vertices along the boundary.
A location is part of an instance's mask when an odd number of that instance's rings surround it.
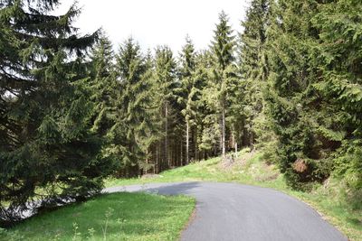
<svg viewBox="0 0 362 241">
<path fill-rule="evenodd" d="M 269 0 L 253 0 L 242 23 L 243 33 L 240 35 L 239 66 L 243 78 L 242 112 L 246 127 L 244 137 L 247 137 L 246 144 L 251 146 L 256 138 L 262 145 L 270 141 L 262 96 L 268 76 L 265 43 L 269 18 Z"/>
</svg>

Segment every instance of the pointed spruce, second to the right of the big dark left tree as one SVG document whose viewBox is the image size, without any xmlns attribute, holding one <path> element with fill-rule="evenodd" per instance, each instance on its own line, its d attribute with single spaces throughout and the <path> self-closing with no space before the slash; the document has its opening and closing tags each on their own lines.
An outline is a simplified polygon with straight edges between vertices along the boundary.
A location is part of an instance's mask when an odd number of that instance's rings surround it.
<svg viewBox="0 0 362 241">
<path fill-rule="evenodd" d="M 144 166 L 151 143 L 149 133 L 153 131 L 152 122 L 155 121 L 150 107 L 152 93 L 149 78 L 145 78 L 148 66 L 138 43 L 132 38 L 120 46 L 117 62 L 121 91 L 117 144 L 121 146 L 121 172 L 132 176 Z"/>
</svg>

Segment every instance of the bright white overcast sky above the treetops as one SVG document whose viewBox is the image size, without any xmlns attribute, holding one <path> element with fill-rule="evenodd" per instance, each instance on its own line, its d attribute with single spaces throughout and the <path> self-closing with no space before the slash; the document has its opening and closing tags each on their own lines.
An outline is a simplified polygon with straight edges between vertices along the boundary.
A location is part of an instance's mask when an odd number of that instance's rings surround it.
<svg viewBox="0 0 362 241">
<path fill-rule="evenodd" d="M 73 0 L 62 0 L 63 14 Z M 240 31 L 248 0 L 78 0 L 81 16 L 74 24 L 81 33 L 102 27 L 118 49 L 132 36 L 143 50 L 167 44 L 180 51 L 189 34 L 196 49 L 210 44 L 218 14 L 224 10 L 233 30 Z M 235 32 L 236 33 L 236 32 Z"/>
</svg>

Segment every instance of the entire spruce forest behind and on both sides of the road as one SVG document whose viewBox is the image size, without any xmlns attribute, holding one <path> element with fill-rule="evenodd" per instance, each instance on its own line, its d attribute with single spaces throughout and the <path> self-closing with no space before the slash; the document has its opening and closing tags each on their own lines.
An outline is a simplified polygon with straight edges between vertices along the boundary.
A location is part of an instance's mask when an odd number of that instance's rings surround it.
<svg viewBox="0 0 362 241">
<path fill-rule="evenodd" d="M 81 35 L 60 4 L 0 0 L 0 226 L 243 147 L 293 189 L 333 175 L 362 199 L 360 0 L 251 0 L 243 32 L 221 12 L 208 48 L 179 53 Z"/>
</svg>

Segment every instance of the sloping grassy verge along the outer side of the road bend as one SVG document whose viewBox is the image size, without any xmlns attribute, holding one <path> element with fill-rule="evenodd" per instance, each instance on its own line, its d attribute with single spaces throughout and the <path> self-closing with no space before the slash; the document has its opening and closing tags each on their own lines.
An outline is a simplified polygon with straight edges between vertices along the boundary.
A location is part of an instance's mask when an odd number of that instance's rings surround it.
<svg viewBox="0 0 362 241">
<path fill-rule="evenodd" d="M 108 180 L 106 185 L 111 187 L 172 181 L 233 181 L 281 190 L 310 204 L 350 240 L 362 240 L 362 210 L 352 209 L 348 202 L 343 201 L 343 195 L 338 191 L 343 187 L 338 181 L 330 179 L 328 185 L 316 185 L 310 192 L 291 190 L 276 166 L 262 162 L 262 153 L 249 153 L 247 149 L 239 153 L 233 163 L 213 158 L 164 171 L 153 178 Z"/>
</svg>

